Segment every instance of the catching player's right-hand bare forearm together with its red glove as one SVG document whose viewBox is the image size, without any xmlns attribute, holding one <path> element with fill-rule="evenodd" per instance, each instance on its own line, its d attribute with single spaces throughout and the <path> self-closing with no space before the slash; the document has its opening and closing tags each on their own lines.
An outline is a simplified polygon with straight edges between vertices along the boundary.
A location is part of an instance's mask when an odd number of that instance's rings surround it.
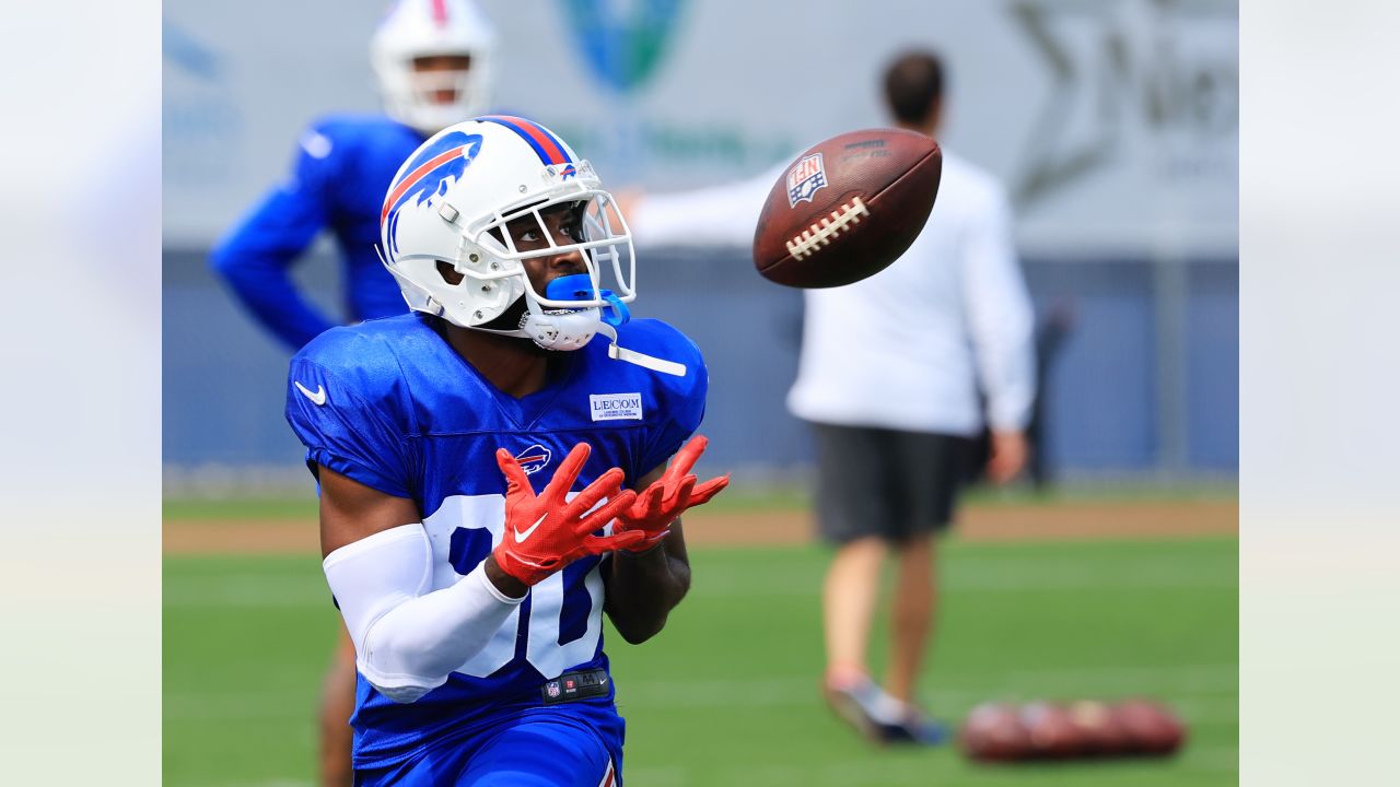
<svg viewBox="0 0 1400 787">
<path fill-rule="evenodd" d="M 603 609 L 622 639 L 640 644 L 666 625 L 666 618 L 690 590 L 690 557 L 680 514 L 701 506 L 729 483 L 729 476 L 699 483 L 690 468 L 706 448 L 694 437 L 666 465 L 652 469 L 633 489 L 636 501 L 617 515 L 617 532 L 641 532 L 645 539 L 622 548 L 603 574 Z"/>
</svg>

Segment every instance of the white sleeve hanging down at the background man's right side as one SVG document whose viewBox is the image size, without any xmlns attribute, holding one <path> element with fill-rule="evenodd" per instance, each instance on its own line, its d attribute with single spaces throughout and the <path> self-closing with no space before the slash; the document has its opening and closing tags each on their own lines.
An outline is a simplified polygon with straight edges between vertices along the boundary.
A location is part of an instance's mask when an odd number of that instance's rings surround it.
<svg viewBox="0 0 1400 787">
<path fill-rule="evenodd" d="M 1021 430 L 1030 422 L 1036 392 L 1035 311 L 1016 262 L 1011 204 L 998 190 L 972 216 L 963 294 L 987 422 L 995 430 Z"/>
</svg>

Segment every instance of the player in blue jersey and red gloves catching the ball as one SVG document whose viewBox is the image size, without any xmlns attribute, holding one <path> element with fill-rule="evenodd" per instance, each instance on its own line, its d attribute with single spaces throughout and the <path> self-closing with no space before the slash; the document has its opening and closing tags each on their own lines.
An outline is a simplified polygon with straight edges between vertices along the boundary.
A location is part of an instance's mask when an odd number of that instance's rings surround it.
<svg viewBox="0 0 1400 787">
<path fill-rule="evenodd" d="M 620 780 L 602 613 L 630 643 L 661 630 L 690 584 L 679 517 L 728 476 L 690 473 L 704 361 L 629 318 L 610 203 L 543 126 L 449 126 L 379 211 L 413 311 L 291 361 L 287 420 L 357 654 L 357 784 Z"/>
</svg>

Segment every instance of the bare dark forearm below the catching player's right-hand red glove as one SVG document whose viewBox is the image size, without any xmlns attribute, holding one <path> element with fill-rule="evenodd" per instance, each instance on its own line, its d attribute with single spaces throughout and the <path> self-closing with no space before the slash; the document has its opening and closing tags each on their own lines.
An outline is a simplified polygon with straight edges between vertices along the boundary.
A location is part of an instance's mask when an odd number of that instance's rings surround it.
<svg viewBox="0 0 1400 787">
<path fill-rule="evenodd" d="M 690 563 L 683 549 L 678 556 L 665 542 L 641 555 L 615 552 L 610 563 L 608 616 L 622 639 L 644 643 L 665 627 L 690 590 Z"/>
</svg>

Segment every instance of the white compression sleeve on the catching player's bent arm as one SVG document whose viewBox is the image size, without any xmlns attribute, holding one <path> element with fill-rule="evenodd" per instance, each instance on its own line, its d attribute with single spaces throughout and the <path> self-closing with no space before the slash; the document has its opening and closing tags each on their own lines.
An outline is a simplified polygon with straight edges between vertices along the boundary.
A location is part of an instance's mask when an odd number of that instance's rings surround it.
<svg viewBox="0 0 1400 787">
<path fill-rule="evenodd" d="M 410 703 L 447 682 L 524 601 L 501 594 L 484 563 L 428 592 L 433 546 L 423 525 L 400 525 L 342 546 L 322 562 L 356 667 L 384 696 Z"/>
</svg>

